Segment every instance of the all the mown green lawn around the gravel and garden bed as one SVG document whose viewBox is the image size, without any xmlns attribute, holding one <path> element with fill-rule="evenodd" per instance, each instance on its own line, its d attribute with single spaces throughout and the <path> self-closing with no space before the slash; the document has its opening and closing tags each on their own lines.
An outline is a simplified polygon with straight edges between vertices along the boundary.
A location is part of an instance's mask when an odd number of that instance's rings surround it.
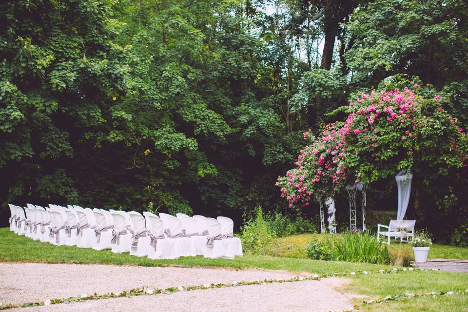
<svg viewBox="0 0 468 312">
<path fill-rule="evenodd" d="M 279 238 L 292 246 L 305 246 L 312 239 L 323 239 L 326 235 L 304 234 Z M 397 248 L 403 248 L 399 244 Z M 408 246 L 405 244 L 405 246 Z M 433 257 L 452 256 L 457 253 L 460 258 L 466 257 L 465 249 L 435 245 Z M 409 247 L 409 246 L 408 246 Z M 447 248 L 445 248 L 447 247 Z M 406 248 L 406 247 L 405 247 Z M 303 248 L 302 248 L 303 249 Z M 431 248 L 432 249 L 432 248 Z M 437 255 L 437 256 L 435 256 Z M 468 311 L 468 294 L 443 295 L 391 301 L 384 304 L 362 305 L 363 300 L 383 298 L 387 295 L 405 293 L 424 294 L 428 292 L 465 291 L 468 288 L 467 273 L 448 273 L 440 271 L 407 271 L 400 273 L 376 273 L 391 266 L 351 263 L 338 261 L 320 261 L 303 258 L 270 257 L 245 255 L 234 260 L 181 257 L 176 260 L 151 260 L 129 254 L 114 254 L 111 251 L 95 251 L 74 246 L 54 246 L 41 243 L 25 236 L 0 229 L 0 261 L 24 261 L 44 263 L 83 263 L 83 264 L 116 264 L 141 266 L 184 266 L 184 267 L 224 267 L 234 269 L 284 270 L 293 273 L 314 273 L 331 275 L 347 273 L 350 283 L 343 291 L 358 294 L 354 303 L 365 312 L 394 311 L 427 311 L 459 312 Z M 371 274 L 351 275 L 350 272 L 367 271 Z"/>
</svg>

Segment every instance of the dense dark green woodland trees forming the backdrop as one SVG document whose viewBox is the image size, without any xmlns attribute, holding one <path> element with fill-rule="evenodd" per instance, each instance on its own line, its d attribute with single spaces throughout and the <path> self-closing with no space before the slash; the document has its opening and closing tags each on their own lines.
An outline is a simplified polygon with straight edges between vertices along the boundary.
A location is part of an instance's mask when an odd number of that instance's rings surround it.
<svg viewBox="0 0 468 312">
<path fill-rule="evenodd" d="M 2 1 L 2 214 L 284 213 L 276 177 L 355 90 L 419 83 L 466 128 L 467 19 L 462 0 Z M 369 197 L 388 202 L 385 183 Z M 466 178 L 441 183 L 418 183 L 418 217 L 462 244 Z"/>
</svg>

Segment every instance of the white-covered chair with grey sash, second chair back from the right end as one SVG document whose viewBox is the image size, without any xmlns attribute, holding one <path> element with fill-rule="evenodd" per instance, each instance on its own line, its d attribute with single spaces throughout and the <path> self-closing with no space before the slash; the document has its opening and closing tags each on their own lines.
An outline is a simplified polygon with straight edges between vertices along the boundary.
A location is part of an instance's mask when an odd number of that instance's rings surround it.
<svg viewBox="0 0 468 312">
<path fill-rule="evenodd" d="M 206 218 L 208 223 L 208 237 L 203 256 L 205 258 L 234 259 L 234 252 L 229 248 L 230 241 L 223 239 L 221 222 L 214 218 Z"/>
</svg>

